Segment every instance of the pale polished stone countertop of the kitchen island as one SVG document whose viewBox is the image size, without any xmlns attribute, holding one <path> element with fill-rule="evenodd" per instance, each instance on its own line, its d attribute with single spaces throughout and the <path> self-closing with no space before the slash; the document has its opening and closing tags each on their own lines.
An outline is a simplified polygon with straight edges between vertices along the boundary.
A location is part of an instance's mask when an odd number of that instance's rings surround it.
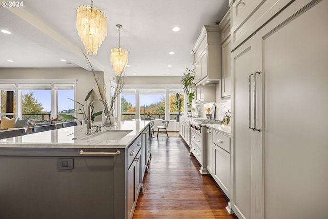
<svg viewBox="0 0 328 219">
<path fill-rule="evenodd" d="M 0 148 L 126 148 L 149 123 L 150 121 L 120 121 L 116 126 L 102 127 L 99 132 L 92 128 L 91 135 L 86 135 L 87 125 L 72 126 L 5 138 L 0 140 Z M 100 125 L 100 122 L 95 125 Z M 121 130 L 126 130 L 128 134 L 119 140 L 105 140 L 106 135 L 117 137 Z M 100 137 L 103 132 L 109 133 Z"/>
</svg>

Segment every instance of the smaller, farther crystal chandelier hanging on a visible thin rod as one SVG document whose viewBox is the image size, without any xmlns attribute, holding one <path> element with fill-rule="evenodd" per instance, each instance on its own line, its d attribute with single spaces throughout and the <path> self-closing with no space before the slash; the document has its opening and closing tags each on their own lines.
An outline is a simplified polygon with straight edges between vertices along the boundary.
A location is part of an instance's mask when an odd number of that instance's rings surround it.
<svg viewBox="0 0 328 219">
<path fill-rule="evenodd" d="M 120 28 L 122 25 L 116 25 L 118 28 L 118 48 L 111 49 L 111 63 L 117 76 L 124 72 L 128 64 L 128 50 L 120 48 Z"/>
</svg>

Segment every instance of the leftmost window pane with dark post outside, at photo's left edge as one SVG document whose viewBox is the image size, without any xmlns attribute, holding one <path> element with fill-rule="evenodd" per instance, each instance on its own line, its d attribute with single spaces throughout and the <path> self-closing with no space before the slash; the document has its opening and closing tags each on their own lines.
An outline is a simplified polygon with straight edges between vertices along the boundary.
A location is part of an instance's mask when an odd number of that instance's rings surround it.
<svg viewBox="0 0 328 219">
<path fill-rule="evenodd" d="M 1 91 L 1 114 L 7 117 L 13 117 L 16 112 L 16 92 L 10 90 Z M 10 115 L 11 114 L 11 115 Z"/>
</svg>

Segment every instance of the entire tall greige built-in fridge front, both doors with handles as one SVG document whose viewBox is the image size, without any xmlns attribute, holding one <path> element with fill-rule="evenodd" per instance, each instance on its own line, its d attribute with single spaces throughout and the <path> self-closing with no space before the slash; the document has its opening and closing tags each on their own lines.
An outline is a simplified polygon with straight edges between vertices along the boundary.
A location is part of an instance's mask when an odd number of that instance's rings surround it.
<svg viewBox="0 0 328 219">
<path fill-rule="evenodd" d="M 262 2 L 278 6 L 289 1 Z M 327 102 L 318 101 L 328 93 L 323 58 L 328 56 L 328 26 L 320 25 L 328 21 L 327 8 L 328 1 L 293 1 L 232 52 L 230 200 L 238 218 L 328 215 L 328 173 L 320 168 L 328 165 L 327 125 L 322 123 L 328 121 Z M 251 102 L 245 101 L 249 92 Z M 311 116 L 305 106 L 316 106 L 320 116 Z M 281 115 L 283 109 L 288 110 Z M 304 115 L 311 117 L 305 126 L 299 119 Z"/>
</svg>

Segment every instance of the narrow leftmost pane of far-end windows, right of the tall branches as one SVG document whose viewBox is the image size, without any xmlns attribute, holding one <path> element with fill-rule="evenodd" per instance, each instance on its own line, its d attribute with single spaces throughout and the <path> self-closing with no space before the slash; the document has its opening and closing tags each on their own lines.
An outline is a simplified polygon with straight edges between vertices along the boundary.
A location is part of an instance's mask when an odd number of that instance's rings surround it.
<svg viewBox="0 0 328 219">
<path fill-rule="evenodd" d="M 121 120 L 135 118 L 135 94 L 121 94 Z"/>
</svg>

